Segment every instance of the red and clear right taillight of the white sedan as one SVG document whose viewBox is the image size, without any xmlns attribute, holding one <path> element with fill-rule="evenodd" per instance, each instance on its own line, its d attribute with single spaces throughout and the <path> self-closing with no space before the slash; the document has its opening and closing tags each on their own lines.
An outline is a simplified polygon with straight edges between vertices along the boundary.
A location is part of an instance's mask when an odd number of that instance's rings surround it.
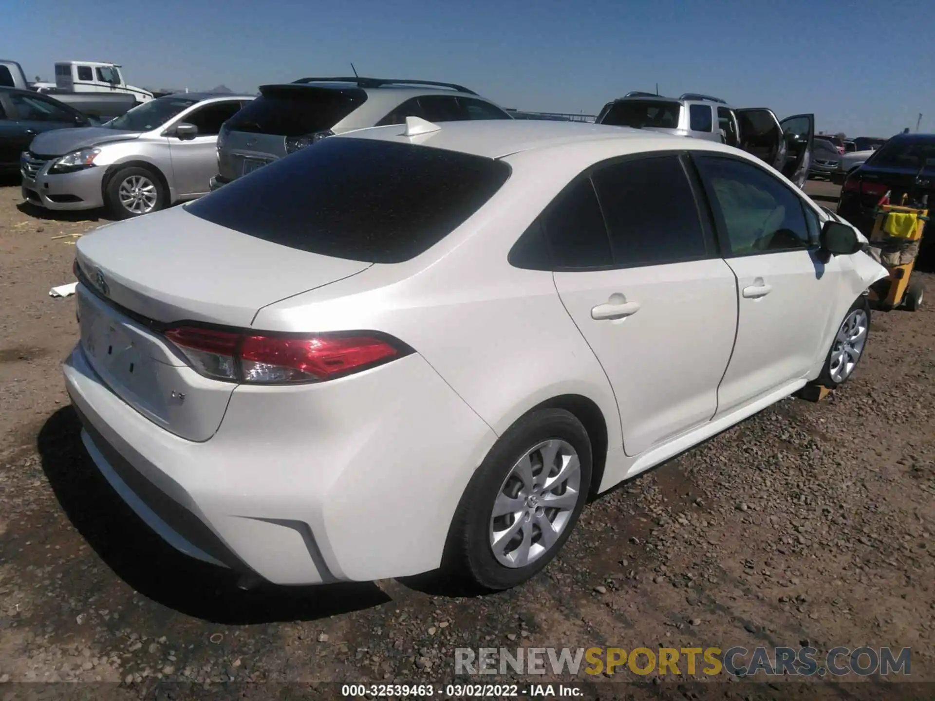
<svg viewBox="0 0 935 701">
<path fill-rule="evenodd" d="M 321 336 L 257 336 L 179 326 L 165 332 L 202 375 L 255 384 L 320 382 L 408 355 L 390 336 L 358 332 Z"/>
</svg>

